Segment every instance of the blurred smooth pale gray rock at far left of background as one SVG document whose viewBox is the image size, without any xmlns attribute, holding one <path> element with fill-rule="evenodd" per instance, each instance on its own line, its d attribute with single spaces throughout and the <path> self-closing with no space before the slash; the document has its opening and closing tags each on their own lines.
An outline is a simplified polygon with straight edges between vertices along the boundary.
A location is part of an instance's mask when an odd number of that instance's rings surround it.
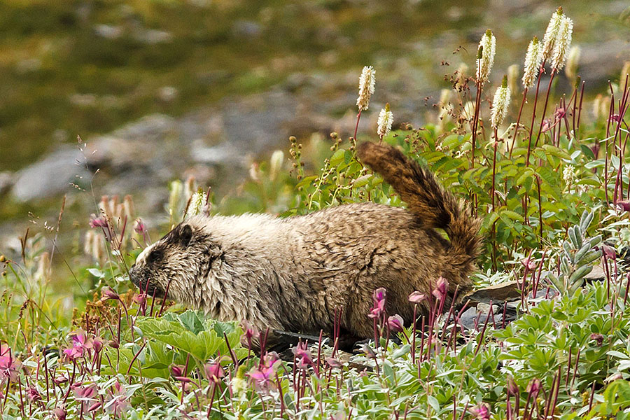
<svg viewBox="0 0 630 420">
<path fill-rule="evenodd" d="M 62 149 L 16 174 L 11 194 L 19 202 L 41 200 L 73 189 L 71 183 L 83 185 L 90 174 L 80 162 L 80 151 Z"/>
</svg>

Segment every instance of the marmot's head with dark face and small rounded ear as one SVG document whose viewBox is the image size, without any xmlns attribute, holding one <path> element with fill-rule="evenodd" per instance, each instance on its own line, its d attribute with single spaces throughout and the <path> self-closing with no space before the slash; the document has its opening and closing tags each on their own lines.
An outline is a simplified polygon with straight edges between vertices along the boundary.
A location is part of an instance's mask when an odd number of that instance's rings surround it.
<svg viewBox="0 0 630 420">
<path fill-rule="evenodd" d="M 130 269 L 131 281 L 148 296 L 168 296 L 179 302 L 198 302 L 198 279 L 221 255 L 221 246 L 195 223 L 183 222 L 138 255 Z"/>
</svg>

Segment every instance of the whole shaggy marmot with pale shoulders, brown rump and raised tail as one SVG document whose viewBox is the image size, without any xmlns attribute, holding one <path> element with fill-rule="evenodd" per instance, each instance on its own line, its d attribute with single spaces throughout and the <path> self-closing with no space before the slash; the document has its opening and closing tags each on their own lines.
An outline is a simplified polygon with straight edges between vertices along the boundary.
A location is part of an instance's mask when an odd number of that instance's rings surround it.
<svg viewBox="0 0 630 420">
<path fill-rule="evenodd" d="M 262 330 L 332 332 L 341 309 L 342 332 L 360 338 L 373 336 L 367 314 L 376 288 L 386 288 L 387 313 L 406 325 L 409 294 L 430 293 L 439 276 L 449 300 L 457 286 L 470 290 L 479 221 L 396 148 L 363 143 L 357 153 L 407 209 L 365 202 L 289 218 L 193 216 L 138 255 L 133 283 L 158 297 L 168 288 L 170 298 L 213 318 Z"/>
</svg>

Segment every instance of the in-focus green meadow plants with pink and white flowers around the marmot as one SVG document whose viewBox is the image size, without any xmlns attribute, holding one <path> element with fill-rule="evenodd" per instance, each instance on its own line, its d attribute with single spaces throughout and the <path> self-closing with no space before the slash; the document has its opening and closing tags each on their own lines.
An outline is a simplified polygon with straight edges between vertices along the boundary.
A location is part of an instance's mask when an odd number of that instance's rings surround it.
<svg viewBox="0 0 630 420">
<path fill-rule="evenodd" d="M 131 197 L 94 200 L 76 238 L 92 264 L 66 262 L 75 297 L 50 287 L 63 206 L 56 225 L 24 235 L 20 255 L 0 256 L 0 416 L 630 419 L 630 66 L 619 63 L 605 94 L 584 97 L 572 32 L 558 8 L 542 40 L 529 44 L 522 77 L 506 69 L 493 85 L 505 41 L 488 29 L 475 73 L 447 76 L 432 122 L 396 121 L 391 101 L 372 137 L 360 139 L 398 146 L 465 200 L 485 239 L 477 286 L 516 281 L 517 302 L 479 304 L 464 325 L 470 303 L 447 307 L 449 279 L 440 277 L 433 293 L 409 296 L 414 306 L 428 300 L 430 314 L 402 325 L 386 313 L 387 290 L 377 289 L 365 314 L 374 339 L 355 354 L 339 351 L 335 328 L 287 357 L 266 349 L 267 331 L 132 287 L 135 257 L 186 216 L 404 205 L 356 159 L 356 131 L 291 137 L 290 158 L 276 151 L 253 164 L 238 195 L 216 200 L 195 179 L 172 181 L 160 232 L 148 230 Z M 562 71 L 568 92 L 557 89 Z M 372 111 L 377 82 L 365 66 L 356 127 Z"/>
</svg>

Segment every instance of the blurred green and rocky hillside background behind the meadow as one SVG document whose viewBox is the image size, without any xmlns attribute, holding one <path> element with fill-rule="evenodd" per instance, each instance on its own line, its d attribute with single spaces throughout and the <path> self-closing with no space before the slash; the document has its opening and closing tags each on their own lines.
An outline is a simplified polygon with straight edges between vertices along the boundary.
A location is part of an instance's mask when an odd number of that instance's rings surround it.
<svg viewBox="0 0 630 420">
<path fill-rule="evenodd" d="M 87 227 L 101 195 L 132 194 L 155 226 L 169 181 L 230 194 L 290 134 L 349 137 L 366 64 L 363 135 L 385 102 L 396 123 L 421 124 L 444 75 L 474 69 L 486 29 L 497 83 L 557 6 L 587 94 L 602 92 L 630 60 L 627 1 L 4 0 L 0 251 L 54 225 L 64 195 L 66 225 Z"/>
</svg>

